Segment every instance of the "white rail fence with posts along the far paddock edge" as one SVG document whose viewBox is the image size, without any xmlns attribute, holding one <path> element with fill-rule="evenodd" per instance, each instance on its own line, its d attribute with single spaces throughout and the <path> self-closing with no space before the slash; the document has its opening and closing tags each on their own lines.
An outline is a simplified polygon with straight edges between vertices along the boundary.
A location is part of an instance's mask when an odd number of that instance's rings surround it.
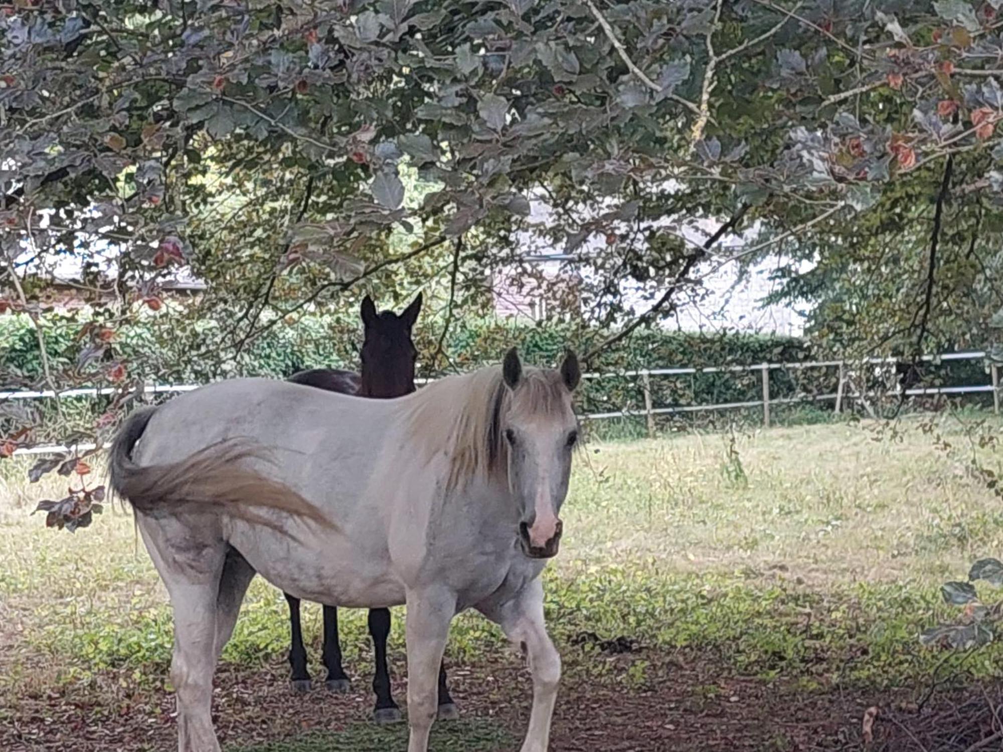
<svg viewBox="0 0 1003 752">
<path fill-rule="evenodd" d="M 921 358 L 925 362 L 944 362 L 944 361 L 956 361 L 956 360 L 984 360 L 986 358 L 986 353 L 982 351 L 964 352 L 964 353 L 947 353 L 944 355 L 925 355 Z M 873 413 L 873 409 L 868 402 L 869 398 L 872 397 L 883 397 L 883 396 L 903 396 L 903 391 L 901 389 L 893 389 L 888 391 L 879 392 L 868 392 L 861 391 L 857 388 L 855 384 L 854 369 L 858 369 L 866 365 L 889 365 L 900 362 L 896 358 L 867 358 L 864 360 L 857 361 L 843 361 L 843 360 L 825 360 L 825 361 L 812 361 L 807 363 L 755 363 L 750 365 L 735 365 L 735 366 L 710 366 L 707 368 L 652 368 L 652 369 L 642 369 L 635 371 L 620 371 L 620 372 L 608 372 L 608 373 L 586 373 L 583 374 L 585 379 L 609 379 L 609 378 L 639 378 L 641 380 L 641 389 L 644 396 L 644 409 L 643 410 L 614 410 L 611 412 L 595 412 L 582 415 L 584 420 L 604 420 L 608 418 L 621 418 L 621 417 L 641 417 L 644 416 L 647 419 L 648 433 L 654 434 L 655 432 L 655 416 L 656 415 L 672 415 L 680 413 L 693 413 L 693 412 L 708 412 L 717 410 L 736 410 L 736 409 L 748 409 L 748 408 L 762 408 L 763 412 L 763 424 L 769 426 L 770 424 L 770 406 L 771 405 L 781 405 L 781 404 L 794 404 L 801 402 L 827 402 L 830 400 L 835 401 L 835 412 L 842 412 L 845 400 L 848 397 L 854 399 L 859 399 L 863 402 L 865 407 L 869 412 Z M 839 385 L 837 391 L 831 394 L 804 394 L 797 395 L 794 397 L 773 397 L 769 396 L 769 373 L 774 370 L 805 370 L 805 369 L 823 369 L 823 368 L 838 368 L 839 369 Z M 758 371 L 761 374 L 761 384 L 762 384 L 762 398 L 757 400 L 749 400 L 744 402 L 720 402 L 715 404 L 697 404 L 697 405 L 676 405 L 672 407 L 656 407 L 653 404 L 651 396 L 651 379 L 652 377 L 672 377 L 672 376 L 688 376 L 695 374 L 705 374 L 705 373 L 742 373 L 742 372 L 755 372 Z M 906 389 L 905 396 L 929 396 L 936 394 L 976 394 L 976 393 L 986 393 L 991 392 L 993 395 L 993 411 L 996 414 L 1000 412 L 1000 398 L 1003 396 L 1003 388 L 1000 386 L 999 379 L 999 367 L 993 363 L 990 365 L 990 378 L 989 384 L 975 384 L 969 386 L 939 386 L 939 387 L 923 387 L 915 389 Z M 428 383 L 431 379 L 415 379 L 419 384 Z M 170 394 L 178 392 L 190 392 L 193 389 L 198 389 L 200 384 L 155 384 L 147 385 L 143 387 L 143 392 L 145 394 Z M 114 393 L 114 389 L 110 387 L 104 388 L 83 388 L 83 389 L 67 389 L 66 391 L 58 392 L 59 397 L 97 397 L 102 395 L 110 395 Z M 42 391 L 4 391 L 0 392 L 0 403 L 6 400 L 23 400 L 23 399 L 46 399 L 56 397 L 57 393 L 52 390 L 42 390 Z M 94 444 L 78 444 L 74 446 L 64 446 L 61 444 L 52 444 L 45 446 L 33 446 L 23 449 L 18 449 L 14 452 L 16 455 L 20 454 L 54 454 L 59 452 L 70 451 L 71 449 L 77 449 L 80 451 L 88 451 L 94 448 Z M 104 448 L 107 448 L 105 445 Z"/>
</svg>

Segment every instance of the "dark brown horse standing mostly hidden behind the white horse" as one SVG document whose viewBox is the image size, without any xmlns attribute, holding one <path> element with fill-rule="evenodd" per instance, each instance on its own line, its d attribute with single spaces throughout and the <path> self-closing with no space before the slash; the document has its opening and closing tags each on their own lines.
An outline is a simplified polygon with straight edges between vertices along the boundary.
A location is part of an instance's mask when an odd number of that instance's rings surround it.
<svg viewBox="0 0 1003 752">
<path fill-rule="evenodd" d="M 397 316 L 393 311 L 376 312 L 376 306 L 367 295 L 362 301 L 362 323 L 365 339 L 362 344 L 362 372 L 317 368 L 301 371 L 290 381 L 306 384 L 319 389 L 360 397 L 389 399 L 401 397 L 414 391 L 414 362 L 417 350 L 411 340 L 411 329 L 421 310 L 421 295 Z M 300 627 L 300 600 L 286 594 L 289 602 L 289 620 L 292 626 L 293 645 L 289 652 L 292 665 L 292 685 L 294 691 L 306 692 L 310 689 L 310 674 L 307 671 L 307 654 L 303 647 L 303 632 Z M 386 639 L 390 634 L 390 612 L 388 609 L 369 611 L 369 634 L 373 639 L 376 654 L 376 673 L 373 678 L 373 692 L 376 693 L 376 709 L 373 718 L 379 723 L 399 721 L 400 708 L 390 693 L 390 671 L 386 662 Z M 347 692 L 348 677 L 341 666 L 341 646 L 338 640 L 338 611 L 334 607 L 324 607 L 324 666 L 327 668 L 326 686 L 332 692 Z M 445 667 L 439 667 L 438 717 L 457 717 L 456 706 L 446 688 Z"/>
</svg>

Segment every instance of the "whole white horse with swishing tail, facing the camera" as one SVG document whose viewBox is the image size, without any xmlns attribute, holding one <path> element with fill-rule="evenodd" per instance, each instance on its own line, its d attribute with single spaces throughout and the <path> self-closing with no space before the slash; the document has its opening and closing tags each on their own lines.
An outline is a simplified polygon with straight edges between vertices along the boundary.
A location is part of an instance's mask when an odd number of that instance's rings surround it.
<svg viewBox="0 0 1003 752">
<path fill-rule="evenodd" d="M 426 752 L 449 623 L 474 608 L 528 658 L 523 752 L 546 752 L 561 658 L 540 582 L 558 552 L 580 378 L 503 366 L 392 400 L 271 379 L 137 411 L 111 449 L 171 595 L 179 750 L 220 749 L 213 674 L 255 574 L 333 606 L 407 605 L 408 752 Z M 278 460 L 278 461 L 276 461 Z"/>
</svg>

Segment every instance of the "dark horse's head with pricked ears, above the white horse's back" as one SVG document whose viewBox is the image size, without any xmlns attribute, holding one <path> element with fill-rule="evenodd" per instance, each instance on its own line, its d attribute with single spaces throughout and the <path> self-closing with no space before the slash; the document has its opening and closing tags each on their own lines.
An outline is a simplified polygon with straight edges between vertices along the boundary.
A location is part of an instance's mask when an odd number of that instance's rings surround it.
<svg viewBox="0 0 1003 752">
<path fill-rule="evenodd" d="M 362 383 L 360 397 L 400 397 L 414 391 L 414 363 L 418 351 L 411 330 L 421 310 L 421 294 L 400 316 L 393 311 L 376 312 L 367 295 L 362 300 Z"/>
</svg>

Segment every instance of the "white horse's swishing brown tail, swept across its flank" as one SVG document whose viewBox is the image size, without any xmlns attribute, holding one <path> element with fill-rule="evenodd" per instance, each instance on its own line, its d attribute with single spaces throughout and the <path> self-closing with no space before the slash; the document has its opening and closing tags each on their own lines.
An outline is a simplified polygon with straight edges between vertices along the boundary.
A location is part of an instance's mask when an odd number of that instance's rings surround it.
<svg viewBox="0 0 1003 752">
<path fill-rule="evenodd" d="M 155 410 L 144 407 L 129 415 L 111 444 L 110 484 L 132 508 L 147 514 L 223 513 L 283 529 L 254 510 L 265 507 L 336 527 L 289 486 L 242 466 L 249 459 L 271 459 L 266 447 L 250 439 L 226 439 L 178 462 L 138 465 L 132 459 L 132 448 Z"/>
</svg>

